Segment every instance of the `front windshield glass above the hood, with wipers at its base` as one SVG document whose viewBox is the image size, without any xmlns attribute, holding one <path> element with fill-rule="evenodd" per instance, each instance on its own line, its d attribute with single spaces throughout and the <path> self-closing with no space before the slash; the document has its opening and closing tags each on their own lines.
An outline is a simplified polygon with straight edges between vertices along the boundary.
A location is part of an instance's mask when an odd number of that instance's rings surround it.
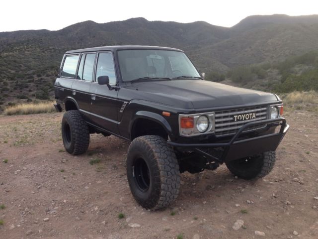
<svg viewBox="0 0 318 239">
<path fill-rule="evenodd" d="M 121 50 L 118 60 L 123 81 L 200 77 L 189 58 L 179 51 Z"/>
</svg>

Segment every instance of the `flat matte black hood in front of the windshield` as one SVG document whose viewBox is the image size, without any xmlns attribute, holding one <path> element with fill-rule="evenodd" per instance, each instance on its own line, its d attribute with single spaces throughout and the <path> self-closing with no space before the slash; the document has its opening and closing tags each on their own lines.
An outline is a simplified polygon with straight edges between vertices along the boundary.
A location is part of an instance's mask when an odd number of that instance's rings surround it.
<svg viewBox="0 0 318 239">
<path fill-rule="evenodd" d="M 194 109 L 277 102 L 270 93 L 202 80 L 140 82 L 127 88 L 138 89 L 139 99 Z"/>
</svg>

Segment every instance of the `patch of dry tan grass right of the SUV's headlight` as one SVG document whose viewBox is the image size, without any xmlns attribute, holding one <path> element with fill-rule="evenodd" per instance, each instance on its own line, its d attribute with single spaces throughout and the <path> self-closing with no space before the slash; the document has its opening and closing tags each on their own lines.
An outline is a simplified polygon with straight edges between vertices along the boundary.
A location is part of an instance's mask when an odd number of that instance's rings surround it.
<svg viewBox="0 0 318 239">
<path fill-rule="evenodd" d="M 318 92 L 294 91 L 280 96 L 286 110 L 318 111 Z"/>
</svg>

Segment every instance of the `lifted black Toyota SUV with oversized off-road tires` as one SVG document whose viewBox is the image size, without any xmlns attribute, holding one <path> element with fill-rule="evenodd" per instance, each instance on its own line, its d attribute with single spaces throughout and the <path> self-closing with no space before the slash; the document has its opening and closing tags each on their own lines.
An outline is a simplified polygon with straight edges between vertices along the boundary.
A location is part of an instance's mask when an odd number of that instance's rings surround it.
<svg viewBox="0 0 318 239">
<path fill-rule="evenodd" d="M 84 153 L 90 133 L 131 141 L 127 178 L 147 209 L 177 197 L 184 171 L 225 163 L 240 178 L 264 177 L 289 127 L 278 96 L 205 81 L 183 51 L 166 47 L 68 51 L 55 98 L 69 153 Z"/>
</svg>

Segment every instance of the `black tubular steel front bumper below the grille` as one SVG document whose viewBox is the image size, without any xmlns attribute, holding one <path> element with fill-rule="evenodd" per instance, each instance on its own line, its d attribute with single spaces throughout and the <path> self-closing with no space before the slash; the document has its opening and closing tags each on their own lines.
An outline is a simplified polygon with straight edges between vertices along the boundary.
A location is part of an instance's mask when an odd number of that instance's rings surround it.
<svg viewBox="0 0 318 239">
<path fill-rule="evenodd" d="M 243 131 L 253 126 L 254 124 L 264 123 L 267 127 L 279 126 L 279 132 L 268 133 L 250 138 L 240 138 Z M 244 124 L 239 131 L 231 138 L 229 142 L 225 143 L 176 143 L 168 141 L 168 144 L 174 147 L 186 149 L 184 151 L 193 150 L 200 155 L 210 159 L 211 161 L 217 161 L 219 163 L 236 160 L 239 158 L 253 156 L 266 151 L 275 151 L 279 143 L 285 136 L 289 125 L 286 123 L 286 119 L 265 119 Z M 213 155 L 209 149 L 222 148 L 219 155 Z M 208 149 L 208 150 L 206 150 Z"/>
</svg>

